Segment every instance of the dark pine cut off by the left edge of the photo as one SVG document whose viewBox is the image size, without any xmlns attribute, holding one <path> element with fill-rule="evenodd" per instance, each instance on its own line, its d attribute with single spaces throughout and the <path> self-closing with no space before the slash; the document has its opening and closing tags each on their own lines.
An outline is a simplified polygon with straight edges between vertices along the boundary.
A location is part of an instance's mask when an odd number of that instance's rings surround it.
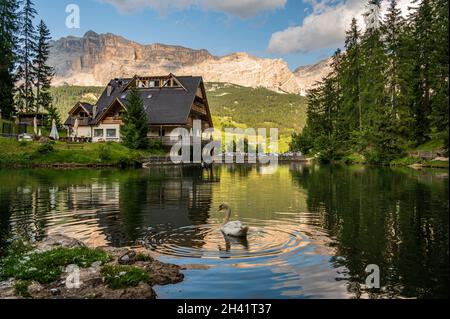
<svg viewBox="0 0 450 319">
<path fill-rule="evenodd" d="M 10 119 L 14 113 L 14 65 L 17 59 L 18 3 L 0 0 L 0 114 Z"/>
</svg>

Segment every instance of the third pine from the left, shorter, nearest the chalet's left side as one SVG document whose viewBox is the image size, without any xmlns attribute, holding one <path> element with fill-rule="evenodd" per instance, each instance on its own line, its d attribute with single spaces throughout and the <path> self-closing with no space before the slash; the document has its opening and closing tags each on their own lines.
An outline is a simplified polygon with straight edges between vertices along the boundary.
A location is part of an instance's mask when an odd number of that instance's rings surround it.
<svg viewBox="0 0 450 319">
<path fill-rule="evenodd" d="M 38 32 L 39 39 L 33 61 L 32 74 L 36 88 L 35 110 L 39 113 L 42 110 L 48 111 L 52 105 L 50 87 L 54 72 L 53 68 L 47 65 L 50 53 L 50 31 L 42 20 L 39 24 Z"/>
</svg>

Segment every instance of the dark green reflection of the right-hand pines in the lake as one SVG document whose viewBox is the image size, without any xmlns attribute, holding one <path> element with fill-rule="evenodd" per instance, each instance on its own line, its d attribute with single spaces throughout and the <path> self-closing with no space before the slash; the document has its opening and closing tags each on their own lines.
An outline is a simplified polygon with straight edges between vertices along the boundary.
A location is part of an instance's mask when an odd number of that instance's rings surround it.
<svg viewBox="0 0 450 319">
<path fill-rule="evenodd" d="M 448 297 L 448 175 L 411 169 L 311 166 L 292 170 L 308 210 L 334 239 L 337 266 L 365 283 L 381 269 L 383 294 Z M 342 258 L 343 257 L 343 258 Z"/>
</svg>

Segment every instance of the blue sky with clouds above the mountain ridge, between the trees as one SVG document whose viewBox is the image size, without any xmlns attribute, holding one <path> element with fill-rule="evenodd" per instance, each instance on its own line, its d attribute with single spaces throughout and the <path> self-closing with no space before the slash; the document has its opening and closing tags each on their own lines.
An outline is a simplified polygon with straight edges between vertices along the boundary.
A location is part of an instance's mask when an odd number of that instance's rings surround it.
<svg viewBox="0 0 450 319">
<path fill-rule="evenodd" d="M 342 46 L 362 0 L 35 0 L 54 39 L 88 30 L 143 44 L 207 49 L 222 56 L 248 52 L 282 58 L 291 69 L 315 63 Z M 407 2 L 407 0 L 401 1 Z M 65 25 L 66 6 L 80 8 L 80 28 Z"/>
</svg>

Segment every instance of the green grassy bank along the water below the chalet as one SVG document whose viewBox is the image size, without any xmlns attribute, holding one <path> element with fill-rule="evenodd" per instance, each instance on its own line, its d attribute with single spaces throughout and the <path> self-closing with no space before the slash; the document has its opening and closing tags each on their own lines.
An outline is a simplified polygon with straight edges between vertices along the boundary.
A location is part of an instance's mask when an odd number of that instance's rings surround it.
<svg viewBox="0 0 450 319">
<path fill-rule="evenodd" d="M 161 151 L 134 151 L 117 143 L 69 146 L 56 143 L 52 147 L 37 142 L 18 142 L 0 138 L 0 165 L 132 165 L 149 155 L 164 155 Z"/>
</svg>

